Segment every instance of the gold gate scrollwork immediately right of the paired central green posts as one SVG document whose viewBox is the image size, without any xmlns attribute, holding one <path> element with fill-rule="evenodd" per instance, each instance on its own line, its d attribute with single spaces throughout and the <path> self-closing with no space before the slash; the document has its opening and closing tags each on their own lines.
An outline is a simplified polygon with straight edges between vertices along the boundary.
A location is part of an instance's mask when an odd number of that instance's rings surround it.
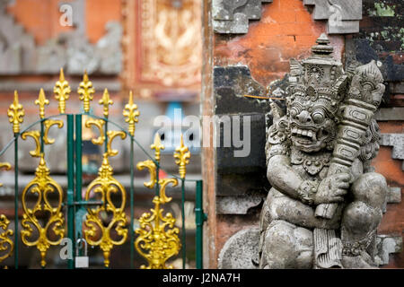
<svg viewBox="0 0 404 287">
<path fill-rule="evenodd" d="M 127 240 L 127 215 L 125 213 L 125 204 L 127 192 L 119 181 L 113 177 L 113 169 L 110 166 L 109 157 L 118 154 L 118 151 L 111 150 L 112 140 L 120 135 L 122 139 L 126 137 L 124 132 L 109 131 L 108 151 L 104 152 L 102 165 L 95 178 L 87 187 L 85 192 L 85 200 L 89 200 L 92 195 L 100 195 L 101 206 L 87 209 L 85 219 L 84 236 L 87 242 L 92 246 L 100 246 L 104 255 L 104 265 L 110 266 L 110 250 L 117 245 L 122 245 Z M 116 206 L 111 199 L 114 196 L 120 196 L 121 203 Z M 111 213 L 110 222 L 102 220 L 102 214 Z M 120 239 L 116 240 L 111 237 L 111 231 L 115 230 Z"/>
</svg>

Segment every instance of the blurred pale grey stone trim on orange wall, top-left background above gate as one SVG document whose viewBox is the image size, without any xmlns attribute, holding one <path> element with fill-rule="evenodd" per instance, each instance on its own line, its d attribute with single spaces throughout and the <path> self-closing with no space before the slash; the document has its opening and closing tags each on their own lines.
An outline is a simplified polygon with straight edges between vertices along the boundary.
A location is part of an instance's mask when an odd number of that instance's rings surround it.
<svg viewBox="0 0 404 287">
<path fill-rule="evenodd" d="M 85 69 L 89 74 L 119 74 L 122 70 L 120 23 L 107 23 L 105 36 L 92 45 L 83 36 L 84 0 L 69 2 L 76 11 L 73 14 L 75 30 L 48 39 L 42 46 L 36 46 L 33 37 L 6 13 L 5 7 L 10 1 L 1 3 L 0 74 L 57 74 L 61 67 L 66 74 L 83 74 Z"/>
</svg>

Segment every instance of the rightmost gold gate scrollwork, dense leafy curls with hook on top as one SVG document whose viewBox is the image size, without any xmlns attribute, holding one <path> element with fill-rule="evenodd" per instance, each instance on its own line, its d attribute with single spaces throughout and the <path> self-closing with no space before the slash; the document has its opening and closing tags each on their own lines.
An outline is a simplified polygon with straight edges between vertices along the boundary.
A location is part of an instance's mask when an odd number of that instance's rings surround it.
<svg viewBox="0 0 404 287">
<path fill-rule="evenodd" d="M 171 197 L 165 196 L 165 188 L 168 184 L 177 186 L 176 178 L 164 178 L 159 180 L 161 185 L 160 196 L 154 196 L 154 208 L 152 213 L 143 213 L 139 219 L 140 228 L 135 230 L 138 237 L 135 241 L 137 252 L 148 262 L 148 265 L 141 265 L 142 269 L 171 269 L 172 265 L 165 265 L 165 262 L 177 255 L 180 251 L 180 230 L 174 227 L 175 218 L 171 213 L 166 213 L 161 204 L 171 201 Z"/>
</svg>

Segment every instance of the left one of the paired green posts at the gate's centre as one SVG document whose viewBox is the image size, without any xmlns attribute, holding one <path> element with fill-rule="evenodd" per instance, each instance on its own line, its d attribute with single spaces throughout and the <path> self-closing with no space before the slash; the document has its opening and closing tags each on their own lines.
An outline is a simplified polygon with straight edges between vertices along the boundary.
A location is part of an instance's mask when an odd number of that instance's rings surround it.
<svg viewBox="0 0 404 287">
<path fill-rule="evenodd" d="M 68 259 L 68 268 L 75 268 L 75 123 L 73 115 L 67 115 L 67 237 L 72 242 L 72 259 Z"/>
</svg>

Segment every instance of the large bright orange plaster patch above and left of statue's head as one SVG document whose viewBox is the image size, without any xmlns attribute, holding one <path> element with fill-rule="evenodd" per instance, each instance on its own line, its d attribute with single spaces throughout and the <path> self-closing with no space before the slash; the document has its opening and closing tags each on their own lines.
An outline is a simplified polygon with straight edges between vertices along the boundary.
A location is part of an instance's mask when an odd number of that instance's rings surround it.
<svg viewBox="0 0 404 287">
<path fill-rule="evenodd" d="M 250 21 L 249 32 L 229 39 L 215 34 L 215 65 L 243 64 L 255 80 L 268 85 L 289 73 L 291 58 L 310 56 L 311 48 L 326 23 L 313 21 L 301 0 L 274 0 L 263 4 L 259 21 Z M 334 56 L 341 59 L 344 38 L 329 36 Z"/>
</svg>

